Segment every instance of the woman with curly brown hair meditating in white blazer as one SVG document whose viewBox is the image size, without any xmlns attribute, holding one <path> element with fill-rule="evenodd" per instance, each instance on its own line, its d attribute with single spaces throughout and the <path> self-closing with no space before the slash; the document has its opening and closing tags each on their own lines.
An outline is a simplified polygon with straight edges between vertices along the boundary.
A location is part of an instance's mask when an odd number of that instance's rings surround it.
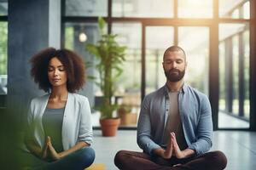
<svg viewBox="0 0 256 170">
<path fill-rule="evenodd" d="M 67 49 L 46 48 L 30 61 L 34 82 L 48 94 L 32 99 L 29 108 L 28 168 L 89 167 L 95 159 L 90 105 L 86 97 L 75 94 L 85 82 L 83 59 Z"/>
</svg>

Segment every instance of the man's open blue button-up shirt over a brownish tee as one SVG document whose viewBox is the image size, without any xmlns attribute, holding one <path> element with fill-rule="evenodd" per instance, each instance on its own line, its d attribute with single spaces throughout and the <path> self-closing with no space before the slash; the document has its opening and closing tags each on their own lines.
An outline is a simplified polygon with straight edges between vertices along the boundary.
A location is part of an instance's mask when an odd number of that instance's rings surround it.
<svg viewBox="0 0 256 170">
<path fill-rule="evenodd" d="M 165 85 L 148 94 L 141 106 L 137 125 L 137 144 L 149 155 L 162 144 L 169 110 L 169 89 Z M 178 94 L 178 110 L 189 149 L 196 155 L 212 147 L 212 111 L 207 95 L 184 84 Z"/>
</svg>

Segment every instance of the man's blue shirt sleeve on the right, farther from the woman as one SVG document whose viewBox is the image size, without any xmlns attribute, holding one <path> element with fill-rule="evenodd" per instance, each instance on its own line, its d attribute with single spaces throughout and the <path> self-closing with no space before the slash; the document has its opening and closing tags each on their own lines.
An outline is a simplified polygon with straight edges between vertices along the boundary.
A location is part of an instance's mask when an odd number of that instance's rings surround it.
<svg viewBox="0 0 256 170">
<path fill-rule="evenodd" d="M 196 155 L 201 155 L 212 147 L 212 111 L 207 96 L 201 99 L 201 114 L 196 131 L 196 141 L 189 144 L 189 149 L 195 150 Z"/>
</svg>

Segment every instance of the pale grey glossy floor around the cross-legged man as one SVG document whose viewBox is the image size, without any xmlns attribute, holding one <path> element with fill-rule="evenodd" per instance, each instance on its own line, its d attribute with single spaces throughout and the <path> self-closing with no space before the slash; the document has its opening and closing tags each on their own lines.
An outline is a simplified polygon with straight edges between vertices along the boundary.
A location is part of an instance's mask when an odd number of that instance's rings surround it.
<svg viewBox="0 0 256 170">
<path fill-rule="evenodd" d="M 104 164 L 106 170 L 118 169 L 113 157 L 118 150 L 140 150 L 135 130 L 119 130 L 116 137 L 102 137 L 100 130 L 94 131 L 93 148 L 96 164 Z M 244 131 L 214 132 L 212 150 L 222 150 L 228 158 L 227 170 L 256 169 L 256 133 Z"/>
</svg>

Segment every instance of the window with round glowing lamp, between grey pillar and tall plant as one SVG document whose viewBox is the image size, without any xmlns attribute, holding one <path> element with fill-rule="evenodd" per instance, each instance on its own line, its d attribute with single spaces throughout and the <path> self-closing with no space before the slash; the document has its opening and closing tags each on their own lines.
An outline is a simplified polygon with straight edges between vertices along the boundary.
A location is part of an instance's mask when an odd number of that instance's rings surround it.
<svg viewBox="0 0 256 170">
<path fill-rule="evenodd" d="M 84 36 L 82 36 L 84 35 Z M 96 23 L 76 23 L 67 22 L 65 24 L 65 48 L 72 49 L 80 54 L 86 65 L 86 73 L 90 77 L 98 77 L 93 69 L 96 59 L 85 50 L 86 42 L 96 42 L 99 38 L 99 32 Z M 95 96 L 98 95 L 99 88 L 92 80 L 88 80 L 84 89 L 79 94 L 86 94 L 90 101 L 90 105 L 95 105 Z"/>
</svg>

